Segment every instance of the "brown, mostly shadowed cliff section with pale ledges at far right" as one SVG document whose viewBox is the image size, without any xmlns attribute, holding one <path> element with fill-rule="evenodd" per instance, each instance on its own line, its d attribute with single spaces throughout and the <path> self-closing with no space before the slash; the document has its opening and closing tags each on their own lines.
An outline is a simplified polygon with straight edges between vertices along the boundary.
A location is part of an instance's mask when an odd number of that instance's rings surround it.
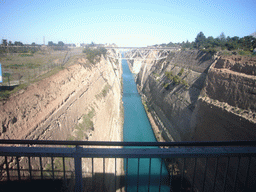
<svg viewBox="0 0 256 192">
<path fill-rule="evenodd" d="M 191 126 L 199 141 L 255 140 L 256 59 L 221 56 L 209 69 Z"/>
</svg>

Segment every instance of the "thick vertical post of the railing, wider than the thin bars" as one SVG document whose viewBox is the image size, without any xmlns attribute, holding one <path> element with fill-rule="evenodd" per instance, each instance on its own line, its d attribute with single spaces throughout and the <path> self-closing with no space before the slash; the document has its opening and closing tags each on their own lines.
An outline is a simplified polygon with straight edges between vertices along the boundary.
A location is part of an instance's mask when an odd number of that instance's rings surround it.
<svg viewBox="0 0 256 192">
<path fill-rule="evenodd" d="M 74 161 L 75 161 L 75 191 L 82 192 L 83 191 L 83 178 L 82 178 L 82 162 L 81 162 L 81 151 L 82 147 L 76 146 L 76 151 L 74 153 Z"/>
</svg>

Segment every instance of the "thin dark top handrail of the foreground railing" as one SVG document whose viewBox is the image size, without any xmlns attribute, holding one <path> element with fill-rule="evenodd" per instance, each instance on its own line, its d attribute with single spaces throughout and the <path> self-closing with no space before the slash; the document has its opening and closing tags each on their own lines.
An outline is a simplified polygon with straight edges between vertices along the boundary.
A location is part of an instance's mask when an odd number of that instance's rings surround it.
<svg viewBox="0 0 256 192">
<path fill-rule="evenodd" d="M 185 147 L 185 146 L 256 146 L 256 141 L 183 141 L 183 142 L 120 142 L 120 141 L 64 141 L 64 140 L 6 140 L 0 139 L 0 144 L 26 145 L 91 145 L 91 146 L 155 146 L 155 147 Z"/>
</svg>

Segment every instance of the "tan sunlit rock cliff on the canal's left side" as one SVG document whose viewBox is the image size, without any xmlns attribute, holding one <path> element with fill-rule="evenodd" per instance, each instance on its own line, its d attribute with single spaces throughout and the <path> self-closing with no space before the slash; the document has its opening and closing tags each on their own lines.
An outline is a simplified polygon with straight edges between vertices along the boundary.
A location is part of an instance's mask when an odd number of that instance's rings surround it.
<svg viewBox="0 0 256 192">
<path fill-rule="evenodd" d="M 0 104 L 0 139 L 122 141 L 121 75 L 121 63 L 116 60 L 102 56 L 100 62 L 91 64 L 79 58 L 76 64 Z M 15 158 L 8 161 L 10 169 L 16 166 Z M 61 160 L 55 161 L 61 164 Z M 91 160 L 83 161 L 84 176 L 91 176 Z M 28 158 L 20 158 L 21 166 L 27 163 Z M 114 175 L 112 160 L 106 159 L 105 163 L 105 172 Z M 31 164 L 40 170 L 37 158 L 31 158 Z M 73 171 L 73 163 L 67 164 Z M 3 159 L 1 166 L 5 166 Z M 51 169 L 49 159 L 43 159 L 43 167 Z M 118 161 L 117 175 L 121 168 L 122 162 Z M 102 171 L 102 160 L 95 160 L 94 172 Z M 22 174 L 29 175 L 28 171 Z"/>
</svg>

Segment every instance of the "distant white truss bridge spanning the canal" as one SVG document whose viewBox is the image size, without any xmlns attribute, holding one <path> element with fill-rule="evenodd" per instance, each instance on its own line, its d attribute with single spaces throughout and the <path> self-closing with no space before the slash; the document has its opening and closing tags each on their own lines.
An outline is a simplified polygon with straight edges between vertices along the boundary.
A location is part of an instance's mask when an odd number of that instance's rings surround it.
<svg viewBox="0 0 256 192">
<path fill-rule="evenodd" d="M 168 56 L 169 52 L 179 51 L 179 47 L 105 47 L 107 56 L 114 59 L 128 60 L 161 60 Z M 127 50 L 125 57 L 122 57 L 121 51 Z M 148 56 L 151 57 L 148 57 Z"/>
</svg>

